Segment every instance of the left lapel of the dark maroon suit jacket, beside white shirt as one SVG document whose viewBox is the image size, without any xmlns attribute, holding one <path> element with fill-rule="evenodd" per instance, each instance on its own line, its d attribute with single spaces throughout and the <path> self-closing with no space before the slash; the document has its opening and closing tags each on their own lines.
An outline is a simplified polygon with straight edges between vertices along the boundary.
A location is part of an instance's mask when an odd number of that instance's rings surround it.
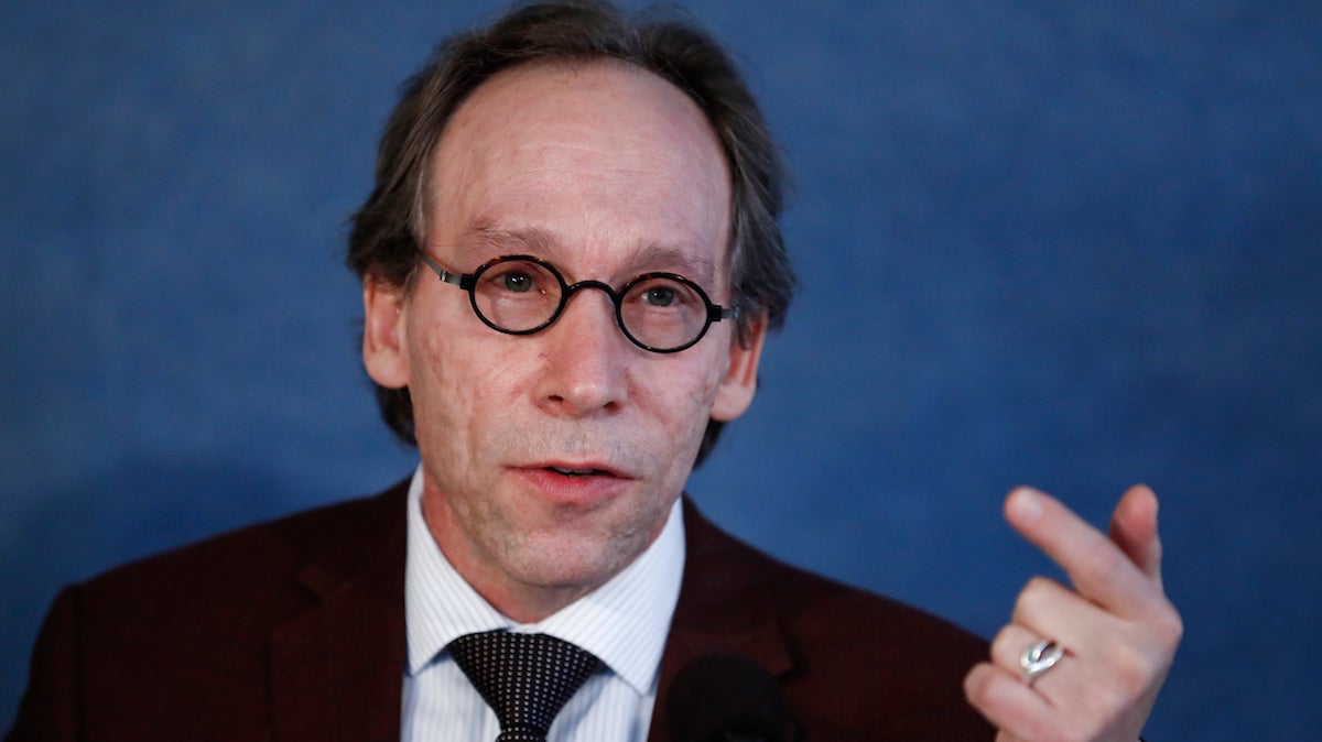
<svg viewBox="0 0 1322 742">
<path fill-rule="evenodd" d="M 313 606 L 271 634 L 279 739 L 399 739 L 406 491 L 378 498 L 342 548 L 299 573 Z"/>
</svg>

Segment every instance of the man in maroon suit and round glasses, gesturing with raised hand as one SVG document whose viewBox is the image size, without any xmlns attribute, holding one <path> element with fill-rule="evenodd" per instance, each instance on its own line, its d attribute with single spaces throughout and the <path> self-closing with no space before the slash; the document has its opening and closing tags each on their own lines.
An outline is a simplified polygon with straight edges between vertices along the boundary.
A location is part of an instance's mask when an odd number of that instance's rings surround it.
<svg viewBox="0 0 1322 742">
<path fill-rule="evenodd" d="M 418 470 L 63 591 L 11 738 L 706 738 L 726 712 L 701 705 L 767 677 L 765 738 L 1134 739 L 1181 632 L 1145 487 L 1109 539 L 1011 494 L 1075 589 L 1030 582 L 989 658 L 682 498 L 788 305 L 779 189 L 756 106 L 683 24 L 561 3 L 442 48 L 349 253 Z M 484 680 L 510 636 L 580 669 L 545 721 Z"/>
</svg>

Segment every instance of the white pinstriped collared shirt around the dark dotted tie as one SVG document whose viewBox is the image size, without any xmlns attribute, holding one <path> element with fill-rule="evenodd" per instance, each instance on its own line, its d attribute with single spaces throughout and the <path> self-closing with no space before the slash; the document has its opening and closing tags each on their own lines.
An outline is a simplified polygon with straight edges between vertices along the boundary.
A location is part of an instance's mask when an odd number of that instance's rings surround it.
<svg viewBox="0 0 1322 742">
<path fill-rule="evenodd" d="M 570 698 L 549 742 L 639 741 L 648 735 L 661 652 L 680 598 L 683 519 L 677 502 L 661 535 L 609 582 L 538 623 L 514 623 L 455 572 L 422 515 L 419 466 L 408 489 L 405 621 L 408 642 L 401 738 L 405 742 L 496 739 L 500 724 L 446 646 L 475 631 L 509 628 L 572 642 L 600 658 Z"/>
</svg>

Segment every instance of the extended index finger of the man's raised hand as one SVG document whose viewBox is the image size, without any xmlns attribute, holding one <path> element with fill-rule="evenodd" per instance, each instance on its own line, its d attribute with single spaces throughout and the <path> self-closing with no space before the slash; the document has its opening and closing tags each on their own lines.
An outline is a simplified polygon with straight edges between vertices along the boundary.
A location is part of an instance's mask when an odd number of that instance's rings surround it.
<svg viewBox="0 0 1322 742">
<path fill-rule="evenodd" d="M 1159 581 L 1145 574 L 1114 541 L 1055 498 L 1018 487 L 1006 498 L 1005 515 L 1092 602 L 1122 618 L 1142 618 L 1165 602 Z"/>
</svg>

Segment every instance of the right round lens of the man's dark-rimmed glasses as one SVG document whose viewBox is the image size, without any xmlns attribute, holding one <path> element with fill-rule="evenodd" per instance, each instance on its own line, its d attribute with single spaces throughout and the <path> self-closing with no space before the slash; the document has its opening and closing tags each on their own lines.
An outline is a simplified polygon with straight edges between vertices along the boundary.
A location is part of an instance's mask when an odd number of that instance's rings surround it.
<svg viewBox="0 0 1322 742">
<path fill-rule="evenodd" d="M 680 276 L 641 276 L 624 290 L 620 321 L 639 343 L 656 350 L 683 347 L 707 327 L 707 301 Z"/>
</svg>

